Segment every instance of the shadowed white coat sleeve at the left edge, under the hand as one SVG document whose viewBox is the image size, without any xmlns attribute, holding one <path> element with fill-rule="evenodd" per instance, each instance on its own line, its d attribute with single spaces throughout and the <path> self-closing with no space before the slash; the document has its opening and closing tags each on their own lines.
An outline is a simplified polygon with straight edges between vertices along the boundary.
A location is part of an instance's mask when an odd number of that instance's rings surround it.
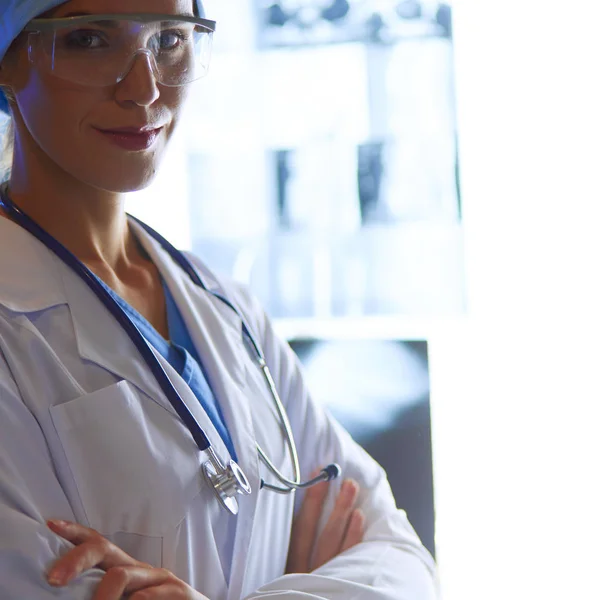
<svg viewBox="0 0 591 600">
<path fill-rule="evenodd" d="M 46 573 L 72 545 L 46 519 L 73 521 L 39 424 L 25 406 L 0 352 L 0 598 L 90 600 L 104 573 L 92 570 L 66 588 Z"/>
</svg>

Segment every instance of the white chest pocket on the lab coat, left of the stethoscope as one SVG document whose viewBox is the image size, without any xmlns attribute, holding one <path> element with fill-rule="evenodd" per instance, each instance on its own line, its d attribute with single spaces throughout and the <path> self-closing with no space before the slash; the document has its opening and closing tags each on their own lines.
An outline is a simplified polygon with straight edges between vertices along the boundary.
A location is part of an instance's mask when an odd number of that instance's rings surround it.
<svg viewBox="0 0 591 600">
<path fill-rule="evenodd" d="M 129 382 L 51 416 L 88 523 L 103 535 L 162 537 L 199 501 L 203 456 L 182 422 Z"/>
</svg>

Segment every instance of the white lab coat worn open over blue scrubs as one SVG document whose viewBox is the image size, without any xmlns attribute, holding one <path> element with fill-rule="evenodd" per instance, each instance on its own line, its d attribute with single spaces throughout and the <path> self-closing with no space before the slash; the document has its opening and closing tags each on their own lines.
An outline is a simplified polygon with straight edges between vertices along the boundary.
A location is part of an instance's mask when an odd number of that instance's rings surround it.
<svg viewBox="0 0 591 600">
<path fill-rule="evenodd" d="M 436 598 L 431 557 L 397 510 L 382 469 L 309 397 L 296 358 L 260 306 L 238 286 L 222 287 L 191 256 L 206 286 L 230 297 L 258 336 L 291 419 L 303 475 L 337 462 L 344 477 L 362 486 L 364 542 L 311 574 L 284 575 L 294 498 L 259 490 L 261 475 L 269 474 L 255 440 L 291 474 L 289 455 L 240 319 L 134 229 L 187 322 L 252 494 L 240 497 L 238 517 L 221 509 L 200 471 L 203 453 L 128 336 L 78 276 L 0 218 L 0 597 L 92 597 L 100 570 L 67 591 L 45 582 L 49 565 L 70 547 L 45 525 L 57 518 L 97 529 L 211 600 Z M 161 360 L 228 459 L 199 402 Z"/>
</svg>

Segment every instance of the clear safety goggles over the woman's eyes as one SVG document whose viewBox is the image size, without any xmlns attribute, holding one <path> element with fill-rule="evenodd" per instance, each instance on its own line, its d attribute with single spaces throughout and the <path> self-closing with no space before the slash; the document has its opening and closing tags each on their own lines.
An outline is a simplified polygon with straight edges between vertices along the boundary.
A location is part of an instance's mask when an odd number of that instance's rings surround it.
<svg viewBox="0 0 591 600">
<path fill-rule="evenodd" d="M 179 87 L 207 74 L 215 26 L 198 17 L 116 14 L 33 19 L 24 31 L 31 62 L 60 79 L 114 85 L 145 57 L 158 83 Z"/>
</svg>

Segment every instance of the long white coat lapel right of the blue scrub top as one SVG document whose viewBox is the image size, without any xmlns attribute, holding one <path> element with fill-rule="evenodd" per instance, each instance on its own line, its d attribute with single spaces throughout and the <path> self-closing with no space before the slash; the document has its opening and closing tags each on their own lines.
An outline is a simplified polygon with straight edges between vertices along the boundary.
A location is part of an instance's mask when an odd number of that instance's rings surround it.
<svg viewBox="0 0 591 600">
<path fill-rule="evenodd" d="M 224 302 L 195 285 L 160 245 L 139 226 L 133 229 L 168 285 L 199 352 L 214 394 L 218 399 L 240 467 L 251 488 L 250 496 L 238 498 L 232 575 L 229 598 L 240 596 L 254 513 L 260 487 L 256 439 L 250 412 L 245 365 L 252 361 L 242 337 L 242 319 Z"/>
</svg>

